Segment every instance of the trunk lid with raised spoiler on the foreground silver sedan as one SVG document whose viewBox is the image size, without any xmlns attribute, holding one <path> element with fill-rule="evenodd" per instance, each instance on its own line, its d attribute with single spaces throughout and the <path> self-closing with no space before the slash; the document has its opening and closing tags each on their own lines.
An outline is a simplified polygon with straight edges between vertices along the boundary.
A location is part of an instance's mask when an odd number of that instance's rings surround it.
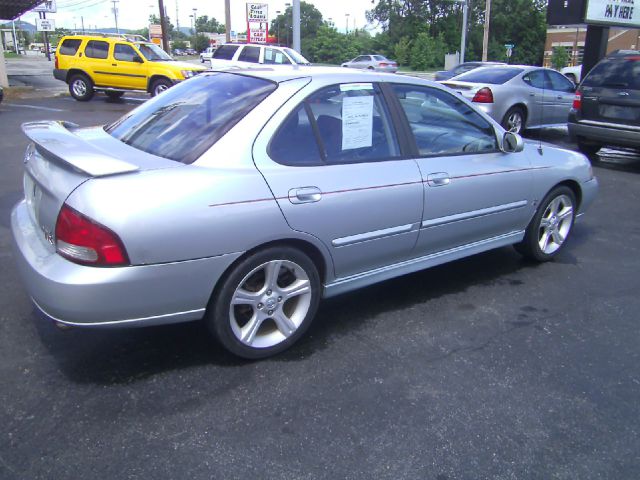
<svg viewBox="0 0 640 480">
<path fill-rule="evenodd" d="M 24 158 L 24 194 L 43 240 L 53 245 L 58 213 L 67 197 L 87 180 L 182 164 L 149 155 L 111 137 L 102 127 L 65 122 L 22 125 L 33 141 Z"/>
</svg>

